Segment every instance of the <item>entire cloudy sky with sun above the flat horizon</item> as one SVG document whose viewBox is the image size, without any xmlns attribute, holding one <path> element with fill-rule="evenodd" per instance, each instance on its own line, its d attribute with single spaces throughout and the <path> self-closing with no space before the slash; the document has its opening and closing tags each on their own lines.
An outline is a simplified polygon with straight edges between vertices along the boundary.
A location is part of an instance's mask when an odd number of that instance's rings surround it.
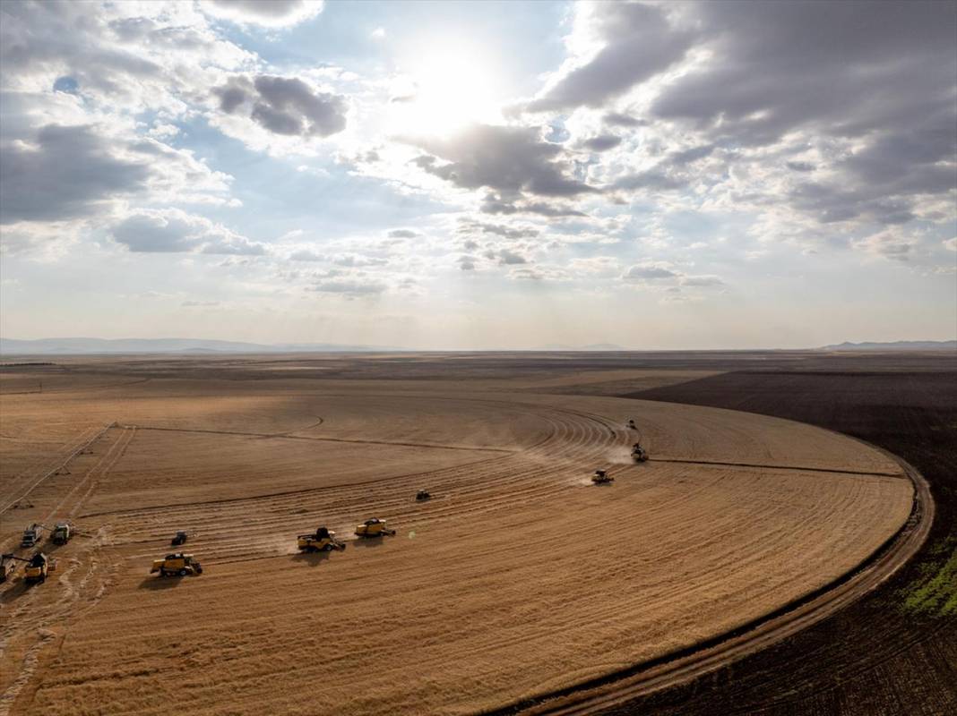
<svg viewBox="0 0 957 716">
<path fill-rule="evenodd" d="M 957 336 L 957 3 L 0 4 L 0 336 Z"/>
</svg>

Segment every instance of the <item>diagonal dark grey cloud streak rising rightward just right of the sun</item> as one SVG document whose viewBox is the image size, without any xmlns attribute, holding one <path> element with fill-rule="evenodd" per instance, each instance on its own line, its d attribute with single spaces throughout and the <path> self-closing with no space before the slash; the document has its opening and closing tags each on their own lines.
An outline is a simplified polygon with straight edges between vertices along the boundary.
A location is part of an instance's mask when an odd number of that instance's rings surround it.
<svg viewBox="0 0 957 716">
<path fill-rule="evenodd" d="M 595 30 L 605 46 L 590 61 L 568 72 L 545 95 L 528 103 L 531 112 L 600 107 L 679 61 L 694 33 L 675 27 L 661 7 L 601 3 Z"/>
</svg>

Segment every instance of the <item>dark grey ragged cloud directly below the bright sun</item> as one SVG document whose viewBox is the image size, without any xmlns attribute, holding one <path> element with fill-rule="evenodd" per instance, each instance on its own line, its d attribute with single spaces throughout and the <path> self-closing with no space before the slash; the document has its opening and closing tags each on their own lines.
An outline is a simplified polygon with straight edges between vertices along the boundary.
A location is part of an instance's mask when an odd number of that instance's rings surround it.
<svg viewBox="0 0 957 716">
<path fill-rule="evenodd" d="M 573 197 L 596 191 L 568 177 L 558 144 L 542 141 L 534 127 L 475 124 L 452 139 L 410 138 L 429 152 L 415 163 L 430 174 L 468 189 L 487 187 L 509 198 L 523 193 Z"/>
</svg>

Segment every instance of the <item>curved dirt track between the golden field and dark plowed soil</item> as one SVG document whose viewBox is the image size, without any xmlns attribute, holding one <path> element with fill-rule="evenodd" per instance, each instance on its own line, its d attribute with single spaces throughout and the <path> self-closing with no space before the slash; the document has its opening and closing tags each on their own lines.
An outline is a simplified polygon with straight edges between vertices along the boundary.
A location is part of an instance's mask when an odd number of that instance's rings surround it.
<svg viewBox="0 0 957 716">
<path fill-rule="evenodd" d="M 819 429 L 836 432 L 827 428 Z M 914 486 L 907 520 L 856 567 L 803 597 L 793 599 L 767 615 L 723 634 L 587 682 L 539 694 L 512 705 L 481 711 L 480 714 L 590 714 L 599 708 L 620 705 L 636 697 L 693 681 L 728 663 L 768 648 L 832 616 L 879 587 L 924 545 L 934 520 L 934 501 L 924 476 L 914 466 L 878 445 L 837 434 L 867 445 L 897 462 Z"/>
</svg>

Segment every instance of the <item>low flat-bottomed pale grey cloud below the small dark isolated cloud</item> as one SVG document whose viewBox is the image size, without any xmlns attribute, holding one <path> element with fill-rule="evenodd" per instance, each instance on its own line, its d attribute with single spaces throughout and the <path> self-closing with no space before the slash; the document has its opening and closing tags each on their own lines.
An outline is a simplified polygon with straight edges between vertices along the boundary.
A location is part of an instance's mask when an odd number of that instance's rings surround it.
<svg viewBox="0 0 957 716">
<path fill-rule="evenodd" d="M 143 209 L 122 219 L 112 229 L 113 239 L 137 253 L 200 252 L 256 256 L 262 244 L 202 216 L 180 209 Z"/>
</svg>

